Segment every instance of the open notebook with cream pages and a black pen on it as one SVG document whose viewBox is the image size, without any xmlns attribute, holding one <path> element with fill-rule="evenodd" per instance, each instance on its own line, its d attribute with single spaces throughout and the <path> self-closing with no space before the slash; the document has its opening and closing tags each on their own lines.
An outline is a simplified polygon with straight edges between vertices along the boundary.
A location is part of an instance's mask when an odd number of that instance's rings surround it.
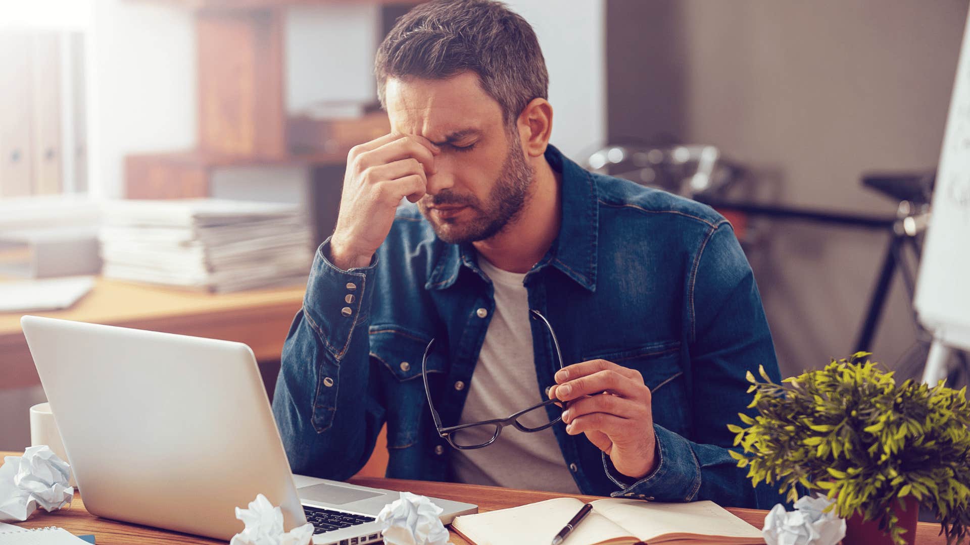
<svg viewBox="0 0 970 545">
<path fill-rule="evenodd" d="M 563 545 L 654 543 L 764 543 L 760 529 L 712 501 L 656 503 L 637 499 L 591 501 L 593 512 Z M 474 545 L 544 545 L 566 526 L 583 501 L 557 497 L 521 507 L 455 518 L 451 528 Z"/>
</svg>

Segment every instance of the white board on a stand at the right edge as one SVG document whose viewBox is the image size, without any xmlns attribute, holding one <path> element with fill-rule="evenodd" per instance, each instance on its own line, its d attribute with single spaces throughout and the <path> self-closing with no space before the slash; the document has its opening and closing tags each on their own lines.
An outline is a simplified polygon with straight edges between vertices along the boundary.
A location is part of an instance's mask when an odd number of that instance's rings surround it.
<svg viewBox="0 0 970 545">
<path fill-rule="evenodd" d="M 933 336 L 970 349 L 970 13 L 922 250 L 914 305 Z"/>
</svg>

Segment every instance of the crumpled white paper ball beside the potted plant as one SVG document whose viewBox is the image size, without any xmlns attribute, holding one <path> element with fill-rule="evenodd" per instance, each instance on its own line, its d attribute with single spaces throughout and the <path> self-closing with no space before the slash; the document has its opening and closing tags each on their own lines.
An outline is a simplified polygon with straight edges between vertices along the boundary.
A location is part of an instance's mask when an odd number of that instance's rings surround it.
<svg viewBox="0 0 970 545">
<path fill-rule="evenodd" d="M 846 521 L 835 511 L 823 513 L 832 504 L 827 497 L 799 497 L 794 511 L 781 503 L 764 517 L 761 534 L 767 545 L 834 545 L 846 535 Z"/>
</svg>

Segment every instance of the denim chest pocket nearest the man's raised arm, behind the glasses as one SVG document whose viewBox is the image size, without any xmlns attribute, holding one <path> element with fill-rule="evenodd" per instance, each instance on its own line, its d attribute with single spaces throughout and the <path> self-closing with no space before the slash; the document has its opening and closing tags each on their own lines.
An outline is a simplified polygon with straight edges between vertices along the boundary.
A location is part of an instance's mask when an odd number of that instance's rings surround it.
<svg viewBox="0 0 970 545">
<path fill-rule="evenodd" d="M 396 328 L 372 327 L 370 332 L 371 358 L 375 363 L 371 380 L 380 381 L 380 390 L 387 406 L 387 445 L 391 449 L 414 445 L 422 430 L 434 425 L 421 361 L 431 337 Z M 444 369 L 444 357 L 436 350 L 428 357 L 428 378 L 434 393 Z"/>
</svg>

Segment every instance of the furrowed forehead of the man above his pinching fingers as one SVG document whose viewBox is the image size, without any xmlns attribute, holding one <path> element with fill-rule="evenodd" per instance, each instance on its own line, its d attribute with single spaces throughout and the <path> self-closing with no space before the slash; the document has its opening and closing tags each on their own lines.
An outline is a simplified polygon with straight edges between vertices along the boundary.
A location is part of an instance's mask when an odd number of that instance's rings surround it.
<svg viewBox="0 0 970 545">
<path fill-rule="evenodd" d="M 467 129 L 487 131 L 501 125 L 501 106 L 465 72 L 447 80 L 387 80 L 384 91 L 391 128 L 432 142 Z"/>
</svg>

